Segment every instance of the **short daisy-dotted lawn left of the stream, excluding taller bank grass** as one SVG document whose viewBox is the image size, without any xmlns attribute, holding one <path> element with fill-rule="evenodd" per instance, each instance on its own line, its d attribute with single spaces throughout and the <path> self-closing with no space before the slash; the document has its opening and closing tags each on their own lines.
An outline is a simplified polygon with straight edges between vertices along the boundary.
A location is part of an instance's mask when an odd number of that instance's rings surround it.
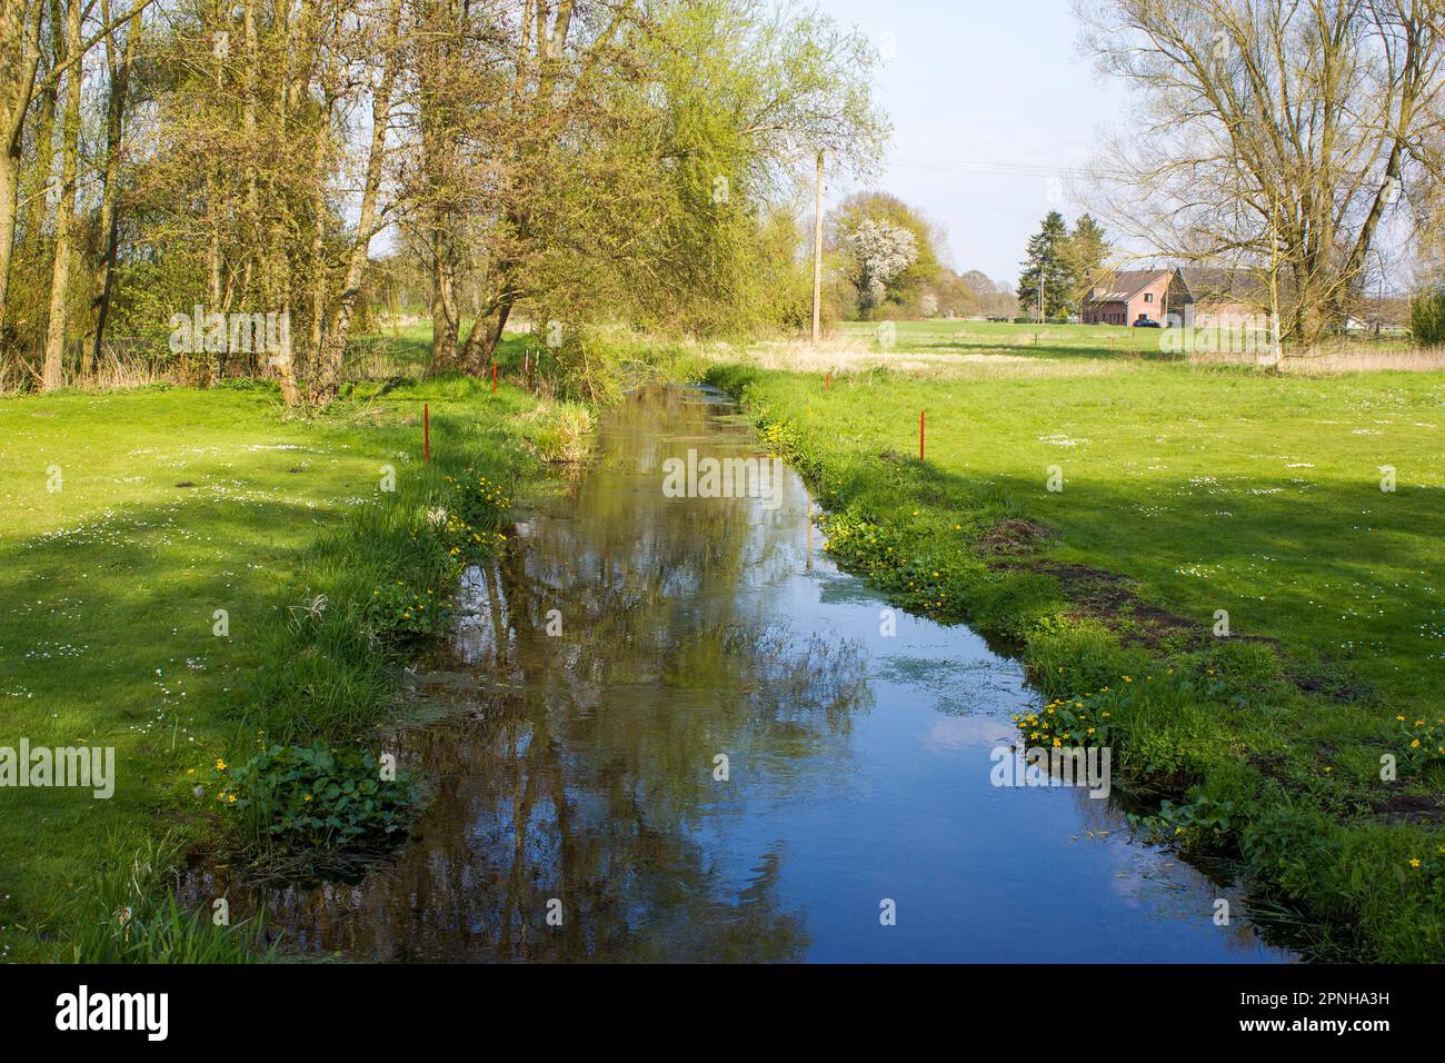
<svg viewBox="0 0 1445 1063">
<path fill-rule="evenodd" d="M 0 791 L 0 957 L 65 956 L 100 862 L 205 832 L 192 784 L 244 755 L 238 722 L 280 671 L 286 618 L 308 586 L 340 597 L 341 574 L 308 551 L 383 505 L 384 467 L 407 503 L 444 471 L 514 474 L 516 415 L 533 405 L 458 379 L 363 386 L 315 419 L 244 385 L 0 401 L 0 745 L 114 746 L 117 761 L 110 800 Z M 329 567 L 373 561 L 406 567 Z"/>
</svg>

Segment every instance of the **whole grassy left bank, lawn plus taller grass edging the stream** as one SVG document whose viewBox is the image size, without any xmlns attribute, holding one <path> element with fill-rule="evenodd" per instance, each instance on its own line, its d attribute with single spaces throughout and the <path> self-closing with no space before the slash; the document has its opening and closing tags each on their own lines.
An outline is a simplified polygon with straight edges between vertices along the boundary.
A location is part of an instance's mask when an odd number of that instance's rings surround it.
<svg viewBox="0 0 1445 1063">
<path fill-rule="evenodd" d="M 0 401 L 0 745 L 116 749 L 110 800 L 0 791 L 0 955 L 224 953 L 163 902 L 179 849 L 230 829 L 217 764 L 257 732 L 371 733 L 538 445 L 578 422 L 461 377 L 358 385 L 314 419 L 249 382 Z M 120 897 L 169 944 L 97 934 Z"/>
</svg>

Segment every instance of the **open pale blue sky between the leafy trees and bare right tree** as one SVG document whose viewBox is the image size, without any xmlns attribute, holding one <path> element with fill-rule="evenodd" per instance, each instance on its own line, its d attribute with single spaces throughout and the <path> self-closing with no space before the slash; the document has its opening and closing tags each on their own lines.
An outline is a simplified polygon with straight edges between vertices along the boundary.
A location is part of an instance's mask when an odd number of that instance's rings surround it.
<svg viewBox="0 0 1445 1063">
<path fill-rule="evenodd" d="M 948 230 L 955 269 L 1013 285 L 1049 210 L 1072 224 L 1069 169 L 1127 123 L 1123 88 L 1078 54 L 1068 0 L 816 0 L 880 51 L 893 143 L 873 184 Z M 851 191 L 829 187 L 829 201 Z"/>
</svg>

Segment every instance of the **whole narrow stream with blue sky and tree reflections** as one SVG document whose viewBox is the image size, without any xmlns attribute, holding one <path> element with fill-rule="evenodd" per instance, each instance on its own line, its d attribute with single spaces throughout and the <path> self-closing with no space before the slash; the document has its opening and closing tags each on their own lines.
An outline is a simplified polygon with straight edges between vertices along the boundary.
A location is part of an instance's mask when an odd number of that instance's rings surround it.
<svg viewBox="0 0 1445 1063">
<path fill-rule="evenodd" d="M 644 389 L 604 418 L 598 461 L 468 573 L 471 615 L 416 678 L 438 719 L 397 738 L 435 785 L 415 837 L 360 882 L 267 894 L 292 947 L 1293 959 L 1238 889 L 1131 839 L 1111 801 L 993 785 L 990 752 L 1039 700 L 1020 667 L 964 626 L 899 612 L 884 635 L 886 605 L 822 554 L 792 470 L 772 498 L 663 493 L 666 458 L 754 447 L 702 389 Z"/>
</svg>

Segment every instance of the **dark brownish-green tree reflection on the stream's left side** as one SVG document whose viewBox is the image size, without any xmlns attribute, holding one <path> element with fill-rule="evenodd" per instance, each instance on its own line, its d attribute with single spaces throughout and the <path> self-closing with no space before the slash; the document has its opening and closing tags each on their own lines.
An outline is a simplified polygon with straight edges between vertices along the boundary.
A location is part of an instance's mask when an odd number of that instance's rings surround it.
<svg viewBox="0 0 1445 1063">
<path fill-rule="evenodd" d="M 634 393 L 604 419 L 594 467 L 468 573 L 449 671 L 418 683 L 454 712 L 397 738 L 434 785 L 418 836 L 358 884 L 270 894 L 293 944 L 396 960 L 802 955 L 803 917 L 777 900 L 786 855 L 740 853 L 728 826 L 760 790 L 805 797 L 819 751 L 847 758 L 871 688 L 861 646 L 795 636 L 769 593 L 806 563 L 790 471 L 776 509 L 663 496 L 669 456 L 754 453 L 724 411 Z"/>
</svg>

